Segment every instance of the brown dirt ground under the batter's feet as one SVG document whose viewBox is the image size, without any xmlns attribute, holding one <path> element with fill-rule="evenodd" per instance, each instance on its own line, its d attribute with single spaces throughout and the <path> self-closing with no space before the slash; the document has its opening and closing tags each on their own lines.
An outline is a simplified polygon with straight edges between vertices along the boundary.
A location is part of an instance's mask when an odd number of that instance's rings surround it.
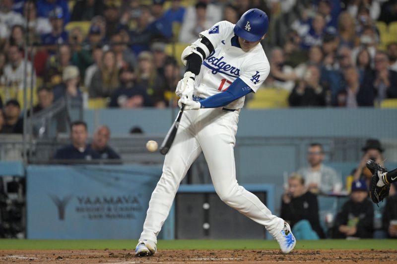
<svg viewBox="0 0 397 264">
<path fill-rule="evenodd" d="M 397 264 L 397 250 L 159 250 L 135 257 L 133 250 L 0 250 L 0 263 L 132 264 L 132 263 L 380 263 Z"/>
</svg>

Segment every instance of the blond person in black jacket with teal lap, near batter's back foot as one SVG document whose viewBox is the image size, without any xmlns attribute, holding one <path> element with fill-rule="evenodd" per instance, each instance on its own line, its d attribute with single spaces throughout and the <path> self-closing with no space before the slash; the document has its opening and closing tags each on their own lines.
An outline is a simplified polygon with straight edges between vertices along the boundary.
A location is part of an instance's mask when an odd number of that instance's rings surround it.
<svg viewBox="0 0 397 264">
<path fill-rule="evenodd" d="M 292 174 L 288 179 L 288 190 L 282 196 L 281 217 L 291 225 L 296 239 L 325 238 L 317 196 L 307 191 L 300 174 Z"/>
</svg>

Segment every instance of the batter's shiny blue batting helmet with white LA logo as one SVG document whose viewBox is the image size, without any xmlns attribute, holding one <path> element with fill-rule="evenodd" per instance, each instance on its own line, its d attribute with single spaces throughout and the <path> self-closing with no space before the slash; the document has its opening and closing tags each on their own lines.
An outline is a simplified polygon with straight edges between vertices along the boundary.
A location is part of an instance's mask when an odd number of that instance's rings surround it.
<svg viewBox="0 0 397 264">
<path fill-rule="evenodd" d="M 255 42 L 259 41 L 267 32 L 269 18 L 266 13 L 258 8 L 245 12 L 234 26 L 234 34 L 242 39 Z"/>
</svg>

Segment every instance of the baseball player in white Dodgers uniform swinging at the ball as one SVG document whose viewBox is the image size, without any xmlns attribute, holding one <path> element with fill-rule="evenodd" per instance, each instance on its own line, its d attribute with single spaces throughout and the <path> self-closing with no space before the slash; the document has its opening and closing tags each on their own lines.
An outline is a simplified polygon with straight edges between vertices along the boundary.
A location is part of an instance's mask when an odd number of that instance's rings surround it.
<svg viewBox="0 0 397 264">
<path fill-rule="evenodd" d="M 135 255 L 149 256 L 156 252 L 157 235 L 179 184 L 201 152 L 220 199 L 264 225 L 283 253 L 295 247 L 296 240 L 288 223 L 273 215 L 236 180 L 233 149 L 239 112 L 245 96 L 258 91 L 270 70 L 260 45 L 268 23 L 264 11 L 250 9 L 236 25 L 221 21 L 201 32 L 199 39 L 182 53 L 187 69 L 176 94 L 181 97 L 178 103 L 185 105 L 185 112 L 152 193 Z"/>
</svg>

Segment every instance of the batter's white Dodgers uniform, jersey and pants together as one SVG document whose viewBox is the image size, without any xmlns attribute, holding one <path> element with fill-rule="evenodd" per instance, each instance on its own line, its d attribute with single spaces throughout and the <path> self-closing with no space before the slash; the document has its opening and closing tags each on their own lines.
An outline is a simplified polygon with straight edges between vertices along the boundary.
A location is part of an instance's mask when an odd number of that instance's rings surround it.
<svg viewBox="0 0 397 264">
<path fill-rule="evenodd" d="M 224 92 L 238 77 L 249 86 L 246 89 L 256 92 L 269 74 L 269 62 L 261 45 L 249 52 L 232 46 L 233 28 L 232 23 L 222 21 L 200 33 L 215 50 L 202 62 L 196 76 L 196 96 L 207 98 Z M 243 105 L 244 97 L 226 108 L 238 109 Z M 281 232 L 284 220 L 273 215 L 257 196 L 237 182 L 234 145 L 239 112 L 227 111 L 223 107 L 184 111 L 175 140 L 165 156 L 163 174 L 150 198 L 139 241 L 157 243 L 157 235 L 168 216 L 179 184 L 201 152 L 220 199 L 264 225 L 273 237 Z"/>
</svg>

